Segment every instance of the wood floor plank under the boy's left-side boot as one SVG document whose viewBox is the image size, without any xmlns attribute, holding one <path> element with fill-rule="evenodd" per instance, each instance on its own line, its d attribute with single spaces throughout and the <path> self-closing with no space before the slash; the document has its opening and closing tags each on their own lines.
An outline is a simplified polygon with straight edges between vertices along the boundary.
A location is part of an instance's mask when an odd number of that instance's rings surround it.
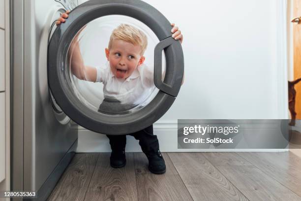
<svg viewBox="0 0 301 201">
<path fill-rule="evenodd" d="M 110 153 L 100 153 L 85 201 L 138 201 L 133 153 L 126 166 L 110 166 Z"/>
</svg>

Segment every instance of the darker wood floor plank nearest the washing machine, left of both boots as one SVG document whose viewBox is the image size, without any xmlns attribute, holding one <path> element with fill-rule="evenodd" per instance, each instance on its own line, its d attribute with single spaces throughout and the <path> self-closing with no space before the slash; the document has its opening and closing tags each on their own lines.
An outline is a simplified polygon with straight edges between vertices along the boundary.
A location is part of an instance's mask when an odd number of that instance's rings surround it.
<svg viewBox="0 0 301 201">
<path fill-rule="evenodd" d="M 48 201 L 84 201 L 98 153 L 76 154 Z"/>
</svg>

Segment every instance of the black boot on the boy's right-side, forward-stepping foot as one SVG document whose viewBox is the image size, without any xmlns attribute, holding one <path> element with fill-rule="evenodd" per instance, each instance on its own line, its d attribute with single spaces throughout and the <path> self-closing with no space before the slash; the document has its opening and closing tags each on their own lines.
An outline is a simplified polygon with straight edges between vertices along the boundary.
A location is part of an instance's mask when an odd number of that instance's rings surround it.
<svg viewBox="0 0 301 201">
<path fill-rule="evenodd" d="M 166 166 L 165 161 L 163 159 L 163 156 L 158 150 L 154 153 L 145 153 L 149 160 L 149 170 L 154 174 L 164 174 L 166 172 Z"/>
</svg>

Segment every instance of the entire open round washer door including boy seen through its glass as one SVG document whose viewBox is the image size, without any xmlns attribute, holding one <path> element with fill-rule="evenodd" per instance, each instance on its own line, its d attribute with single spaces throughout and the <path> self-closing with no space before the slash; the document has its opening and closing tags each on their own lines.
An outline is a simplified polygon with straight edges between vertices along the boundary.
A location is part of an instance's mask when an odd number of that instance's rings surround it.
<svg viewBox="0 0 301 201">
<path fill-rule="evenodd" d="M 183 78 L 181 44 L 171 29 L 139 0 L 90 0 L 72 10 L 48 46 L 48 82 L 60 108 L 101 134 L 153 124 L 174 102 Z"/>
</svg>

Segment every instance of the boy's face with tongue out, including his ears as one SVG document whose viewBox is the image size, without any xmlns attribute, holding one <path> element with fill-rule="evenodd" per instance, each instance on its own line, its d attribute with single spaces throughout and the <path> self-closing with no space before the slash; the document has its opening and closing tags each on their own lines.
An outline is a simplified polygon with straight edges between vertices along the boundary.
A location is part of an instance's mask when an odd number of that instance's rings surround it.
<svg viewBox="0 0 301 201">
<path fill-rule="evenodd" d="M 114 39 L 110 50 L 106 48 L 105 51 L 111 71 L 117 78 L 129 77 L 145 60 L 145 57 L 140 55 L 140 46 L 120 39 Z"/>
</svg>

